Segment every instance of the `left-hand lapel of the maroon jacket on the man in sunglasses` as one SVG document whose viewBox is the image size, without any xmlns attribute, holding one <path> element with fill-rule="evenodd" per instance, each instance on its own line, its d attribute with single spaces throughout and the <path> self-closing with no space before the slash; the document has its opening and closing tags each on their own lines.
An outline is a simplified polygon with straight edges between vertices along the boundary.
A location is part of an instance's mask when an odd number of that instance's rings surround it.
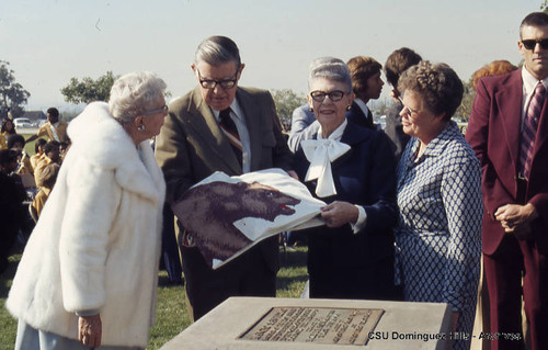
<svg viewBox="0 0 548 350">
<path fill-rule="evenodd" d="M 510 151 L 512 166 L 517 169 L 520 161 L 520 142 L 522 128 L 522 95 L 523 82 L 522 70 L 515 70 L 509 78 L 505 89 L 495 93 L 495 105 L 501 115 L 501 127 L 504 131 L 506 148 Z M 518 97 L 518 98 L 516 98 Z"/>
</svg>

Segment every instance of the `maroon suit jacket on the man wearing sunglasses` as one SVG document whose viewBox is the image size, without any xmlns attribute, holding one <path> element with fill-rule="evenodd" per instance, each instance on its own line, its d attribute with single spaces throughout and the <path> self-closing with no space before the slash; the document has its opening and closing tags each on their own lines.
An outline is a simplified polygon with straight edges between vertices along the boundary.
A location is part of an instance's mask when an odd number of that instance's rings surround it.
<svg viewBox="0 0 548 350">
<path fill-rule="evenodd" d="M 516 174 L 520 163 L 522 71 L 488 77 L 478 82 L 477 95 L 468 123 L 466 139 L 482 168 L 483 252 L 493 253 L 504 237 L 494 219 L 496 208 L 518 203 Z M 548 248 L 548 99 L 545 100 L 525 201 L 535 205 L 539 217 L 533 222 L 537 248 Z"/>
</svg>

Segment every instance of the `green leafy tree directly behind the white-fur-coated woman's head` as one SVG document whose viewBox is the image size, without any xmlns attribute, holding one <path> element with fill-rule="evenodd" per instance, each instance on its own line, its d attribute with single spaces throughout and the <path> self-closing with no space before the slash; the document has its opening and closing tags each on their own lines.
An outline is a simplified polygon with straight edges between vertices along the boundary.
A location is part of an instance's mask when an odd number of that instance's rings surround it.
<svg viewBox="0 0 548 350">
<path fill-rule="evenodd" d="M 109 101 L 111 95 L 111 88 L 118 77 L 114 76 L 112 71 L 107 71 L 104 76 L 93 80 L 90 77 L 70 78 L 70 82 L 61 89 L 65 101 L 71 103 L 90 103 L 93 101 Z"/>
</svg>

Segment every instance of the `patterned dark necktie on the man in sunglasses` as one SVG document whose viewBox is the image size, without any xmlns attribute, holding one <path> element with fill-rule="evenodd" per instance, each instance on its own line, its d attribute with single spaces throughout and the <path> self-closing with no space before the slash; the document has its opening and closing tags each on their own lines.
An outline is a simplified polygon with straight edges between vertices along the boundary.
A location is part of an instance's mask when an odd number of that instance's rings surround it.
<svg viewBox="0 0 548 350">
<path fill-rule="evenodd" d="M 530 174 L 530 163 L 533 161 L 535 137 L 537 135 L 540 112 L 543 111 L 545 93 L 545 86 L 539 82 L 535 88 L 535 92 L 530 97 L 529 106 L 527 108 L 527 113 L 525 114 L 520 150 L 520 170 L 522 170 L 523 177 L 527 180 L 529 179 Z"/>
</svg>

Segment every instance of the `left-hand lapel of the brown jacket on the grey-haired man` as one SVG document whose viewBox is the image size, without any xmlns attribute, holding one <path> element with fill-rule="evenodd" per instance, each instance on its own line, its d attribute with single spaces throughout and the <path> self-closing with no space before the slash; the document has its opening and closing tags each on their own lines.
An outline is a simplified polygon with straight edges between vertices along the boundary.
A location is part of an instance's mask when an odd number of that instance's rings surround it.
<svg viewBox="0 0 548 350">
<path fill-rule="evenodd" d="M 230 147 L 229 142 L 213 114 L 212 109 L 202 99 L 199 88 L 196 87 L 192 95 L 193 103 L 189 104 L 185 123 L 194 131 L 196 139 L 202 140 L 198 149 L 208 150 L 206 157 L 216 157 L 219 170 L 230 169 L 231 173 L 241 174 L 242 170 Z"/>
</svg>

